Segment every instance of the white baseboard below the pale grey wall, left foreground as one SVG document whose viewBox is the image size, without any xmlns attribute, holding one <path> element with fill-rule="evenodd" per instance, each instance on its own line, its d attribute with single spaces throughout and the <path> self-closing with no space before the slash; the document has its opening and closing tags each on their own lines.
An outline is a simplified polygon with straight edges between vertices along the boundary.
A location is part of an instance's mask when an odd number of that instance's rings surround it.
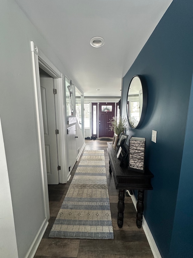
<svg viewBox="0 0 193 258">
<path fill-rule="evenodd" d="M 28 250 L 25 258 L 33 258 L 35 256 L 36 251 L 40 245 L 40 242 L 43 238 L 43 234 L 46 231 L 47 226 L 48 226 L 48 221 L 47 221 L 47 219 L 45 219 L 43 221 L 38 233 L 36 234 L 36 237 L 34 238 L 33 243 L 31 244 L 31 247 Z"/>
</svg>

